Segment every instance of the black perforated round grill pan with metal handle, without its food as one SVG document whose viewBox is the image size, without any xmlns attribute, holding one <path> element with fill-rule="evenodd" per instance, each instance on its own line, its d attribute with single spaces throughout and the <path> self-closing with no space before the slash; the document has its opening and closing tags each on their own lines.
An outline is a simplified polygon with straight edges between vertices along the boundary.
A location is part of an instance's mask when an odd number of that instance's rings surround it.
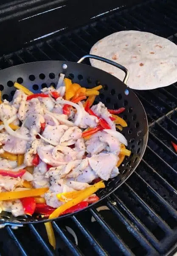
<svg viewBox="0 0 177 256">
<path fill-rule="evenodd" d="M 100 90 L 100 95 L 97 96 L 95 103 L 101 101 L 110 109 L 126 108 L 126 111 L 121 116 L 126 120 L 128 127 L 123 128 L 122 133 L 128 140 L 127 148 L 132 151 L 132 154 L 130 157 L 126 157 L 120 166 L 120 175 L 105 182 L 106 188 L 98 191 L 97 195 L 103 199 L 121 186 L 140 163 L 148 140 L 148 122 L 143 105 L 138 97 L 133 90 L 128 88 L 127 91 L 125 83 L 128 79 L 128 71 L 126 68 L 106 60 L 108 63 L 121 68 L 126 73 L 124 83 L 103 70 L 80 64 L 79 62 L 83 61 L 86 57 L 100 59 L 98 56 L 87 55 L 81 58 L 78 63 L 68 61 L 39 61 L 1 70 L 0 90 L 2 90 L 3 99 L 10 101 L 16 90 L 13 86 L 15 81 L 22 83 L 32 92 L 39 93 L 43 87 L 50 86 L 51 84 L 56 85 L 59 74 L 65 73 L 65 77 L 72 79 L 75 83 L 79 83 L 82 87 L 92 88 L 98 84 L 103 85 L 103 89 Z M 101 60 L 105 61 L 103 58 Z M 59 218 L 65 218 L 70 215 L 72 214 Z M 46 221 L 36 216 L 15 218 L 8 212 L 2 212 L 0 218 L 3 224 L 8 225 Z"/>
</svg>

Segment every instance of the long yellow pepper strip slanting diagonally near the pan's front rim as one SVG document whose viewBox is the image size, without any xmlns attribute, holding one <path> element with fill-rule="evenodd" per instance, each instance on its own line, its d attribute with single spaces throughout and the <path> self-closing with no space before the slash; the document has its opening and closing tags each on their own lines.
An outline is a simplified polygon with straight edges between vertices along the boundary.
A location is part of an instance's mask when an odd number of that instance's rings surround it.
<svg viewBox="0 0 177 256">
<path fill-rule="evenodd" d="M 95 183 L 94 185 L 85 189 L 84 192 L 81 193 L 78 197 L 74 198 L 71 201 L 68 201 L 66 204 L 63 204 L 62 206 L 54 210 L 49 216 L 49 219 L 58 217 L 59 215 L 62 214 L 62 212 L 65 212 L 70 207 L 73 207 L 74 205 L 79 204 L 80 202 L 88 198 L 90 195 L 94 194 L 98 189 L 104 189 L 104 188 L 105 188 L 105 185 L 103 181 Z"/>
</svg>

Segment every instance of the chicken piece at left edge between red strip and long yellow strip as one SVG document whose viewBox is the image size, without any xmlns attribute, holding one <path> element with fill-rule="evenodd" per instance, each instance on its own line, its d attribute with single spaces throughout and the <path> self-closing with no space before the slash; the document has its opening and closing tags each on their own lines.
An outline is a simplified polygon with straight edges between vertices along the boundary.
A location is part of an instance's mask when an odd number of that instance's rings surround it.
<svg viewBox="0 0 177 256">
<path fill-rule="evenodd" d="M 6 189 L 8 191 L 13 191 L 15 187 L 22 186 L 21 179 L 13 178 L 9 176 L 2 176 L 0 175 L 0 187 Z"/>
</svg>

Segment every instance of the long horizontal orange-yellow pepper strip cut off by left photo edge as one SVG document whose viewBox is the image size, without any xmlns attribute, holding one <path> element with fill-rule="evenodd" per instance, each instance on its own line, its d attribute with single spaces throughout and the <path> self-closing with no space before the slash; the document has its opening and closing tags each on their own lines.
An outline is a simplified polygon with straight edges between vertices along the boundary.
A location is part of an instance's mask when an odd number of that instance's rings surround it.
<svg viewBox="0 0 177 256">
<path fill-rule="evenodd" d="M 0 193 L 0 201 L 20 199 L 20 198 L 25 198 L 25 197 L 37 197 L 38 195 L 44 195 L 44 193 L 47 191 L 48 191 L 48 188 L 1 192 Z"/>
</svg>

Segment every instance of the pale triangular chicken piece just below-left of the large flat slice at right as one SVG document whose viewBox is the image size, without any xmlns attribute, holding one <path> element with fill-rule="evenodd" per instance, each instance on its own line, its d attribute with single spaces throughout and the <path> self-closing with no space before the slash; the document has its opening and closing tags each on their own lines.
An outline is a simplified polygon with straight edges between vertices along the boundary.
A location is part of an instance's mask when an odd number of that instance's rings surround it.
<svg viewBox="0 0 177 256">
<path fill-rule="evenodd" d="M 75 178 L 75 180 L 79 182 L 90 183 L 96 178 L 98 178 L 98 175 L 96 175 L 96 172 L 94 172 L 90 166 L 87 166 L 87 168 L 85 168 L 81 172 L 81 174 Z"/>
</svg>

